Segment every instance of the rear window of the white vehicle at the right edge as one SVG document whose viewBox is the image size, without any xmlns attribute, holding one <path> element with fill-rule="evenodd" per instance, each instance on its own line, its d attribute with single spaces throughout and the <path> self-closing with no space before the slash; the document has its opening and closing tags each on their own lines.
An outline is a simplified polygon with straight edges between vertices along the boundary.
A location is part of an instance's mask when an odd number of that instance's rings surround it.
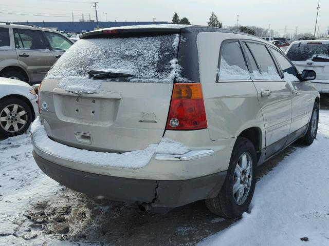
<svg viewBox="0 0 329 246">
<path fill-rule="evenodd" d="M 295 61 L 312 59 L 315 55 L 329 55 L 329 44 L 297 43 L 291 45 L 287 53 L 289 59 Z"/>
</svg>

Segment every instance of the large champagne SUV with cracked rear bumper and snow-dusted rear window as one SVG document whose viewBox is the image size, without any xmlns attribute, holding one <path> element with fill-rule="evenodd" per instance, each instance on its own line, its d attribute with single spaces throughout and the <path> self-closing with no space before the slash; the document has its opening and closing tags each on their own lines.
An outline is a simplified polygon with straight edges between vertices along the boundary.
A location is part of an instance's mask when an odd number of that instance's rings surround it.
<svg viewBox="0 0 329 246">
<path fill-rule="evenodd" d="M 89 195 L 153 212 L 205 199 L 237 217 L 258 166 L 316 138 L 320 97 L 306 81 L 315 76 L 269 42 L 226 29 L 88 32 L 43 80 L 33 156 Z"/>
</svg>

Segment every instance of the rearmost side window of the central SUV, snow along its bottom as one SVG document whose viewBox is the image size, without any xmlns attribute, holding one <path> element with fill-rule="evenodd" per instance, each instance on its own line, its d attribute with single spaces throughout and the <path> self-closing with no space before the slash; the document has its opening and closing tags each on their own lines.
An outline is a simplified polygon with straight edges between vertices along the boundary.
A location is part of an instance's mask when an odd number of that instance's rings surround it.
<svg viewBox="0 0 329 246">
<path fill-rule="evenodd" d="M 223 45 L 217 74 L 219 80 L 250 79 L 239 42 Z"/>
</svg>

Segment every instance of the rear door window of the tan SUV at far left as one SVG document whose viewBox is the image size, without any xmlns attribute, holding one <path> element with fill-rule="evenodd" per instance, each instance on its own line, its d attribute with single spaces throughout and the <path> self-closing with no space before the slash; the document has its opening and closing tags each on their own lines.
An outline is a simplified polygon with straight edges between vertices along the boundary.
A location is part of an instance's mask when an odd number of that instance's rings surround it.
<svg viewBox="0 0 329 246">
<path fill-rule="evenodd" d="M 17 35 L 16 35 L 17 33 Z M 17 29 L 15 30 L 15 46 L 23 49 L 47 49 L 45 39 L 41 31 Z"/>
</svg>

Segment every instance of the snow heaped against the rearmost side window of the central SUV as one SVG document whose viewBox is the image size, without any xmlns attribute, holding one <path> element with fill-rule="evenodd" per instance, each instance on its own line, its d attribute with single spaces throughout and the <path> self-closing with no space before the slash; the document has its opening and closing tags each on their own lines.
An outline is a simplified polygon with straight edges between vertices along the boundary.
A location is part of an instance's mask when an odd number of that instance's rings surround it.
<svg viewBox="0 0 329 246">
<path fill-rule="evenodd" d="M 217 69 L 217 74 L 220 80 L 250 79 L 248 70 L 236 65 L 230 66 L 223 57 L 221 59 L 221 69 Z"/>
</svg>

